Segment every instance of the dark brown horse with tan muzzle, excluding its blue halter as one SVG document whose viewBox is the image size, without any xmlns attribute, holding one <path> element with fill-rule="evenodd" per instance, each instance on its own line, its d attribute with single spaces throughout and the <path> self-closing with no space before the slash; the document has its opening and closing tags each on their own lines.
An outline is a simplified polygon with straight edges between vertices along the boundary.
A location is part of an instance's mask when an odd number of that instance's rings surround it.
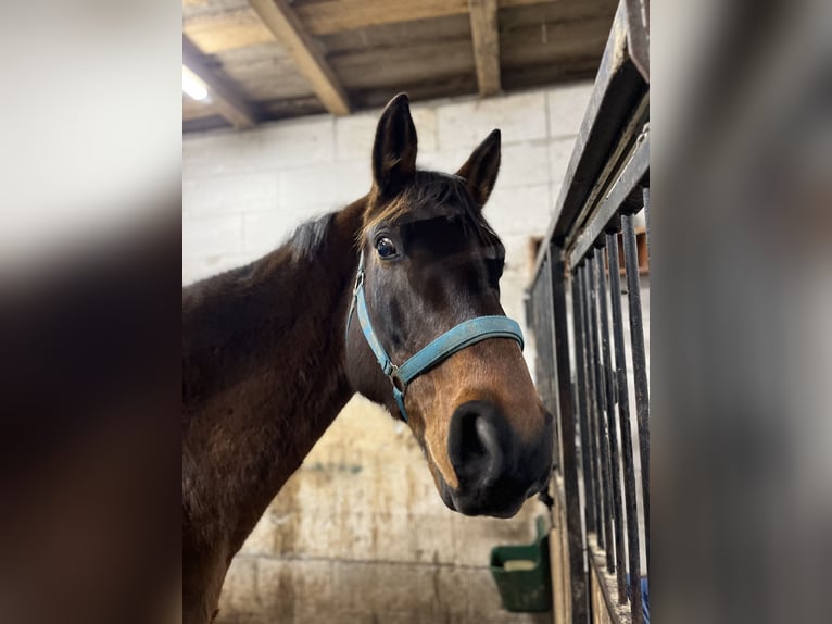
<svg viewBox="0 0 832 624">
<path fill-rule="evenodd" d="M 456 175 L 417 171 L 400 95 L 378 124 L 367 196 L 184 289 L 187 623 L 212 620 L 231 558 L 354 392 L 405 415 L 353 314 L 360 254 L 366 311 L 393 362 L 465 321 L 504 316 L 504 249 L 481 214 L 499 167 L 494 130 Z M 515 340 L 455 352 L 403 404 L 452 510 L 508 517 L 547 482 L 553 421 Z"/>
</svg>

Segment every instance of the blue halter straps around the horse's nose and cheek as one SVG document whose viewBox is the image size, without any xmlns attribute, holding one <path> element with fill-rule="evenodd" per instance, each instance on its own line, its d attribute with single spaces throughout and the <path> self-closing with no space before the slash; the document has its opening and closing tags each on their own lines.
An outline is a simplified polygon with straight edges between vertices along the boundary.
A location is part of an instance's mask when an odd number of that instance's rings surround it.
<svg viewBox="0 0 832 624">
<path fill-rule="evenodd" d="M 355 289 L 353 290 L 350 314 L 346 316 L 346 335 L 350 334 L 350 321 L 353 312 L 357 312 L 358 323 L 364 332 L 373 354 L 376 355 L 381 371 L 393 385 L 393 398 L 399 405 L 402 419 L 407 422 L 407 411 L 404 409 L 404 394 L 407 385 L 416 377 L 446 360 L 457 351 L 466 347 L 488 340 L 489 338 L 510 338 L 516 340 L 522 349 L 522 332 L 516 321 L 507 316 L 477 316 L 469 319 L 449 329 L 427 347 L 417 351 L 414 355 L 396 366 L 390 360 L 390 355 L 381 346 L 381 342 L 373 329 L 367 312 L 367 300 L 364 297 L 364 252 L 358 260 L 358 273 L 355 276 Z"/>
</svg>

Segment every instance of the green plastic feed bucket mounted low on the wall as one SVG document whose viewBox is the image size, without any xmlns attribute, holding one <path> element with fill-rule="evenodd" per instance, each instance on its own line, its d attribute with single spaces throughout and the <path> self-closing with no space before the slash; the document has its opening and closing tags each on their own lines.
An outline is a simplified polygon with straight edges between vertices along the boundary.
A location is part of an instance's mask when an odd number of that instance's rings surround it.
<svg viewBox="0 0 832 624">
<path fill-rule="evenodd" d="M 541 613 L 552 610 L 549 531 L 543 516 L 538 517 L 537 526 L 538 537 L 532 544 L 491 549 L 491 575 L 506 611 Z"/>
</svg>

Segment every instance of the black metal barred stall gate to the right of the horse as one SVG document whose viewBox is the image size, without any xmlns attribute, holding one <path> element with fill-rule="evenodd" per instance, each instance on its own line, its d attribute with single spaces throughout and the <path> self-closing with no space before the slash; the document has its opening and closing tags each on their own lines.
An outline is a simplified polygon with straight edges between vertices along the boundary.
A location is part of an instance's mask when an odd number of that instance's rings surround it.
<svg viewBox="0 0 832 624">
<path fill-rule="evenodd" d="M 622 1 L 527 292 L 557 422 L 558 624 L 648 620 L 647 33 L 644 0 Z"/>
</svg>

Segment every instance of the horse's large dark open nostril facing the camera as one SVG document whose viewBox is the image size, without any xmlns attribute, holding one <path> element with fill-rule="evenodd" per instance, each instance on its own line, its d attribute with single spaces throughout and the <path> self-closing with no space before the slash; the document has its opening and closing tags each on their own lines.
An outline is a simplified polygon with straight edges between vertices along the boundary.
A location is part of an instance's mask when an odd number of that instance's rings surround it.
<svg viewBox="0 0 832 624">
<path fill-rule="evenodd" d="M 503 450 L 500 414 L 486 401 L 459 405 L 451 419 L 447 454 L 461 482 L 484 485 L 500 476 Z"/>
</svg>

